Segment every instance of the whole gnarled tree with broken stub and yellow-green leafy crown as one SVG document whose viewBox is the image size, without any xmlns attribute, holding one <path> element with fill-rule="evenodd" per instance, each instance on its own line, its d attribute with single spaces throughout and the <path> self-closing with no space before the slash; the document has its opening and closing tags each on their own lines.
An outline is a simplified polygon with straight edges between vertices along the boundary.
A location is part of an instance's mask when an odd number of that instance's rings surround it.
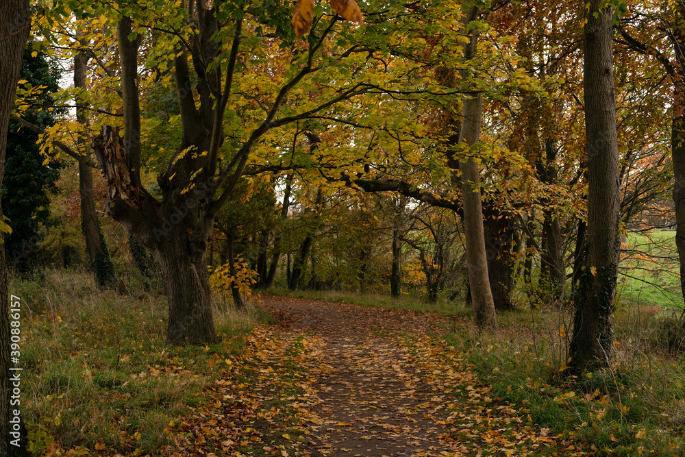
<svg viewBox="0 0 685 457">
<path fill-rule="evenodd" d="M 340 16 L 324 14 L 320 7 L 312 10 L 311 1 L 300 2 L 295 12 L 296 19 L 314 23 L 306 45 L 293 42 L 292 29 L 283 23 L 290 16 L 284 5 L 271 10 L 264 5 L 248 8 L 243 2 L 210 6 L 191 1 L 164 12 L 154 2 L 141 7 L 124 3 L 121 10 L 103 10 L 117 22 L 123 95 L 123 138 L 119 127 L 104 126 L 93 141 L 108 186 L 105 210 L 160 265 L 169 299 L 167 342 L 211 343 L 216 332 L 206 271 L 208 236 L 217 212 L 249 169 L 253 149 L 271 129 L 307 119 L 372 86 L 360 76 L 327 88 L 323 99 L 298 105 L 297 98 L 288 98 L 299 85 L 330 81 L 325 74 L 341 64 L 364 65 L 344 42 L 343 48 L 330 49 L 334 42 L 328 41 L 329 35 L 340 27 Z M 162 14 L 164 29 L 154 25 Z M 360 15 L 350 17 L 361 22 Z M 265 29 L 274 23 L 275 29 L 267 34 Z M 297 20 L 295 25 L 301 32 Z M 182 130 L 175 153 L 158 176 L 160 199 L 142 186 L 140 178 L 145 140 L 140 134 L 140 45 L 149 29 L 164 37 L 158 41 L 155 59 L 147 64 L 171 69 Z M 321 58 L 324 43 L 327 53 L 339 55 L 340 62 Z M 290 46 L 295 53 L 284 50 Z M 290 63 L 282 65 L 286 58 Z M 254 90 L 248 87 L 253 84 L 251 65 L 271 74 L 271 81 L 265 79 L 266 84 L 257 88 L 263 91 L 258 97 L 242 92 Z M 292 103 L 286 106 L 286 100 Z"/>
</svg>

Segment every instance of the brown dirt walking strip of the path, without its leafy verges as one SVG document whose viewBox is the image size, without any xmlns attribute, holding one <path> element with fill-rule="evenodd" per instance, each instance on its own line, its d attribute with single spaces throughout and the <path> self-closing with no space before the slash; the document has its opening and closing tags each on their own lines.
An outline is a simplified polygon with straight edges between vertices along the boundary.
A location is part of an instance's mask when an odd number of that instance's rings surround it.
<svg viewBox="0 0 685 457">
<path fill-rule="evenodd" d="M 267 306 L 287 328 L 321 335 L 316 367 L 320 404 L 314 412 L 325 426 L 316 430 L 313 456 L 439 455 L 445 427 L 436 423 L 440 392 L 421 380 L 406 348 L 373 330 L 429 330 L 436 322 L 417 314 L 270 299 Z M 427 412 L 429 414 L 427 414 Z M 435 454 L 434 454 L 435 453 Z"/>
</svg>

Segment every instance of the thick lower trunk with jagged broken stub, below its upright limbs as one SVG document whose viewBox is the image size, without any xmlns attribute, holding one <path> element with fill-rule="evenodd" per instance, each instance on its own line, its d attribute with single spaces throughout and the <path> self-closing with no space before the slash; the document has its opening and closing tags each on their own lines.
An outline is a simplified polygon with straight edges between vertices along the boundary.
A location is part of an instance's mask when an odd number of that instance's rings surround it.
<svg viewBox="0 0 685 457">
<path fill-rule="evenodd" d="M 118 166 L 125 160 L 126 149 L 116 127 L 103 127 L 93 149 L 104 165 L 105 211 L 136 236 L 160 266 L 169 301 L 166 343 L 215 343 L 206 260 L 214 218 L 199 211 L 201 191 L 189 192 L 183 200 L 169 198 L 159 203 L 132 184 L 130 170 Z"/>
</svg>

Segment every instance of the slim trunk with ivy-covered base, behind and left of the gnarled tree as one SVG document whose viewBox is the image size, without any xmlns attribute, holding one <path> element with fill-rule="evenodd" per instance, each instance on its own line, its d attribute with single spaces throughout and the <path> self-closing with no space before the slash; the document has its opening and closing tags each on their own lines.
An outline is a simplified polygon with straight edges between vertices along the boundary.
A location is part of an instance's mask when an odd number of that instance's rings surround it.
<svg viewBox="0 0 685 457">
<path fill-rule="evenodd" d="M 88 70 L 88 56 L 79 53 L 74 58 L 74 88 L 86 91 L 86 71 Z M 86 103 L 82 95 L 77 93 L 76 121 L 86 127 Z M 86 155 L 86 138 L 77 138 L 81 153 Z M 90 155 L 90 154 L 88 154 Z M 90 258 L 90 269 L 95 273 L 95 281 L 99 288 L 110 288 L 116 285 L 114 264 L 110 259 L 110 251 L 105 243 L 105 236 L 100 227 L 100 220 L 95 210 L 95 191 L 92 185 L 92 169 L 84 160 L 79 160 L 79 195 L 81 197 L 81 230 L 86 238 L 86 250 Z"/>
</svg>

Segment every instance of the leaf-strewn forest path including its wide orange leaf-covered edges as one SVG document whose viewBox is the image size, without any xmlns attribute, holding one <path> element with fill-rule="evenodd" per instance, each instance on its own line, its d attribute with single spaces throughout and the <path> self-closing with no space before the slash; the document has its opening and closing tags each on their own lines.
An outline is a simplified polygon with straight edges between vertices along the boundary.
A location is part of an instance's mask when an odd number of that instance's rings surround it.
<svg viewBox="0 0 685 457">
<path fill-rule="evenodd" d="M 191 426 L 204 432 L 196 452 L 589 455 L 531 425 L 522 405 L 491 398 L 463 354 L 429 336 L 455 325 L 444 317 L 286 297 L 264 306 L 277 322 L 254 330 L 211 387 L 215 403 Z"/>
</svg>

